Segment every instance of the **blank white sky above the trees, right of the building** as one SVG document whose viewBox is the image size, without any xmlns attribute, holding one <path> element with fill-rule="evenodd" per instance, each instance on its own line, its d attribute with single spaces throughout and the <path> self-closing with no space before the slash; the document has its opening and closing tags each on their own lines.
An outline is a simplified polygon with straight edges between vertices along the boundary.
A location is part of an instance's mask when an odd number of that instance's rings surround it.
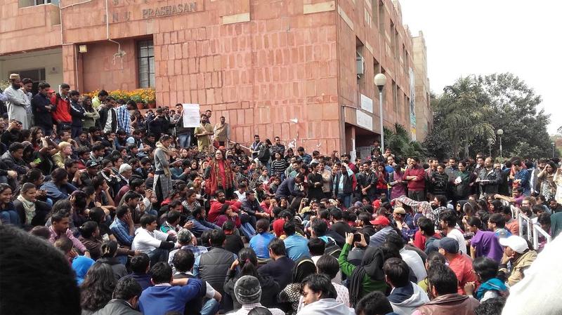
<svg viewBox="0 0 562 315">
<path fill-rule="evenodd" d="M 469 74 L 511 72 L 542 96 L 549 133 L 562 126 L 562 1 L 400 0 L 412 36 L 424 33 L 431 91 Z"/>
</svg>

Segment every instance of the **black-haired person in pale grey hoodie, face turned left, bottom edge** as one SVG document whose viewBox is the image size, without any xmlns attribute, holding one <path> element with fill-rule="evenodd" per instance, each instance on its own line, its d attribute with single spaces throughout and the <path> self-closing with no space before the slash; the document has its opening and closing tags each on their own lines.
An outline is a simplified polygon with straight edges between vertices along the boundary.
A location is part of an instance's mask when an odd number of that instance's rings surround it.
<svg viewBox="0 0 562 315">
<path fill-rule="evenodd" d="M 311 274 L 301 283 L 304 307 L 296 315 L 354 315 L 355 311 L 336 301 L 336 289 L 325 274 Z"/>
</svg>

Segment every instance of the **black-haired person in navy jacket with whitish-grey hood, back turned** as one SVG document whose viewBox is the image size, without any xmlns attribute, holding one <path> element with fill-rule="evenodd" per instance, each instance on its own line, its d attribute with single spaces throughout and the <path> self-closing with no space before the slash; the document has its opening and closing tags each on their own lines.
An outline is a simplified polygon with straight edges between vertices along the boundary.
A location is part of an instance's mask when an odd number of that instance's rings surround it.
<svg viewBox="0 0 562 315">
<path fill-rule="evenodd" d="M 410 315 L 421 305 L 429 302 L 427 293 L 409 280 L 410 268 L 400 258 L 390 258 L 383 266 L 386 282 L 392 287 L 388 301 L 393 311 L 400 315 Z"/>
</svg>

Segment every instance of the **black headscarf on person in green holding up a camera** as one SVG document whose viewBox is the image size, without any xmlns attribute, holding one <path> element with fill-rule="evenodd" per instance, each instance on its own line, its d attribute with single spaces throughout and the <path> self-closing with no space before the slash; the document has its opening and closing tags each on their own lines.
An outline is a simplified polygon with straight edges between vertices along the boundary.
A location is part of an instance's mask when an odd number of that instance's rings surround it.
<svg viewBox="0 0 562 315">
<path fill-rule="evenodd" d="M 351 306 L 355 307 L 355 304 L 361 300 L 363 297 L 363 279 L 365 276 L 369 276 L 373 281 L 384 281 L 384 272 L 382 271 L 382 266 L 384 264 L 384 253 L 381 248 L 370 247 L 365 250 L 365 255 L 361 264 L 353 269 L 351 278 L 349 281 L 349 302 Z"/>
</svg>

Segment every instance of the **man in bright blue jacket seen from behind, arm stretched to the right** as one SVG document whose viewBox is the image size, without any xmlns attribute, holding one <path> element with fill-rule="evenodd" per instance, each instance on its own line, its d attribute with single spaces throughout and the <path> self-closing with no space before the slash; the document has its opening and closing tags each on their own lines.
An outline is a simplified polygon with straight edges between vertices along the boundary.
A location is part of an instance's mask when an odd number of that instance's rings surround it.
<svg viewBox="0 0 562 315">
<path fill-rule="evenodd" d="M 205 287 L 200 279 L 179 279 L 176 281 L 181 281 L 181 284 L 185 285 L 172 286 L 172 270 L 167 262 L 157 262 L 150 268 L 150 274 L 154 286 L 143 290 L 138 300 L 143 314 L 164 315 L 169 311 L 183 314 L 185 303 L 204 295 Z"/>
</svg>

